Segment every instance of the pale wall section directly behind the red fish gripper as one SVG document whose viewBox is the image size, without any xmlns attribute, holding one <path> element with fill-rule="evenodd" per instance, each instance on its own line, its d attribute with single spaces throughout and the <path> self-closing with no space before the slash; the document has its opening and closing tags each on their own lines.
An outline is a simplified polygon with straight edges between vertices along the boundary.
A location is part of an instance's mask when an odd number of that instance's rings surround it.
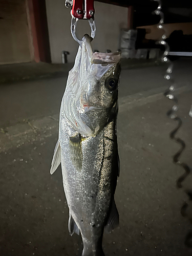
<svg viewBox="0 0 192 256">
<path fill-rule="evenodd" d="M 65 7 L 65 0 L 46 0 L 48 28 L 52 63 L 61 63 L 61 51 L 69 51 L 68 61 L 73 62 L 78 44 L 70 32 L 70 9 Z M 105 52 L 106 49 L 117 51 L 119 48 L 120 28 L 127 27 L 127 8 L 95 2 L 96 36 L 93 50 Z M 90 33 L 87 20 L 79 20 L 77 36 L 82 38 Z"/>
</svg>

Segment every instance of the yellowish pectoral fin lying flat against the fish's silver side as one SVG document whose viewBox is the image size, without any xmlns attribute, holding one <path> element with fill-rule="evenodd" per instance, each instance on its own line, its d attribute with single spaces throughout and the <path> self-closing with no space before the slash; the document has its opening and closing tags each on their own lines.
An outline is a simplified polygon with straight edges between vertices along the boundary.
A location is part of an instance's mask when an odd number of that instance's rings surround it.
<svg viewBox="0 0 192 256">
<path fill-rule="evenodd" d="M 81 137 L 77 134 L 69 139 L 69 152 L 70 158 L 77 170 L 82 168 L 82 150 L 81 150 Z"/>
</svg>

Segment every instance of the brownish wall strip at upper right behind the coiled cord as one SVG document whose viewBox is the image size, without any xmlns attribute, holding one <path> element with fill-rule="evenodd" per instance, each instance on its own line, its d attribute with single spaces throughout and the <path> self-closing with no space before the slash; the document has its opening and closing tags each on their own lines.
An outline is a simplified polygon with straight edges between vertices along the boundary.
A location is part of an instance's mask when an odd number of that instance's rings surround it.
<svg viewBox="0 0 192 256">
<path fill-rule="evenodd" d="M 158 40 L 161 38 L 162 30 L 157 28 L 157 25 L 152 26 L 143 26 L 138 27 L 141 29 L 147 29 L 147 34 L 145 35 L 146 39 L 153 39 Z M 166 30 L 166 35 L 169 35 L 174 30 L 182 30 L 184 35 L 191 35 L 192 34 L 192 23 L 172 23 L 172 24 L 164 24 L 164 28 Z"/>
</svg>

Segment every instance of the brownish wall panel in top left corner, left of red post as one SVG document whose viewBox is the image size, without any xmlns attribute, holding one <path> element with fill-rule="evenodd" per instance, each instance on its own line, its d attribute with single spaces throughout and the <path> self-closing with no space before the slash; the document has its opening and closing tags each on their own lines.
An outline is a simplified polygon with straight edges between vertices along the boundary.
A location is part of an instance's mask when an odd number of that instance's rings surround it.
<svg viewBox="0 0 192 256">
<path fill-rule="evenodd" d="M 0 17 L 0 64 L 31 61 L 26 0 L 1 0 Z"/>
</svg>

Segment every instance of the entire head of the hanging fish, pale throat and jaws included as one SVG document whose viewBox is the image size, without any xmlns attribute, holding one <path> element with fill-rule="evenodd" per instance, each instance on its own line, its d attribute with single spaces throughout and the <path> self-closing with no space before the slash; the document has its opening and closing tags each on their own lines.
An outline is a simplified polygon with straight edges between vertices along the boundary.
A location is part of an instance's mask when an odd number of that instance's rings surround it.
<svg viewBox="0 0 192 256">
<path fill-rule="evenodd" d="M 85 35 L 69 73 L 63 110 L 74 129 L 96 136 L 117 115 L 120 53 L 93 53 Z"/>
</svg>

